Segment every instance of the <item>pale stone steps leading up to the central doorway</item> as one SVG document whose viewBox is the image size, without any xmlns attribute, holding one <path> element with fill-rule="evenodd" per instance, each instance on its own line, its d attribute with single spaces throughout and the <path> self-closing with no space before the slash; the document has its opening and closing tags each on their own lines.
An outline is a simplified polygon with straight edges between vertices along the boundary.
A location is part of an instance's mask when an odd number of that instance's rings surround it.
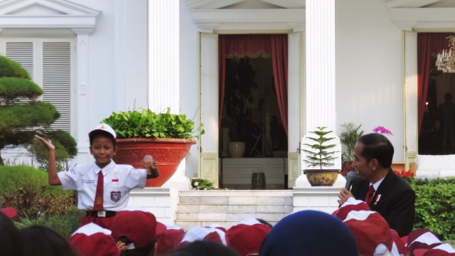
<svg viewBox="0 0 455 256">
<path fill-rule="evenodd" d="M 247 216 L 276 224 L 293 210 L 292 191 L 180 191 L 176 225 L 188 229 L 217 223 L 225 228 Z"/>
</svg>

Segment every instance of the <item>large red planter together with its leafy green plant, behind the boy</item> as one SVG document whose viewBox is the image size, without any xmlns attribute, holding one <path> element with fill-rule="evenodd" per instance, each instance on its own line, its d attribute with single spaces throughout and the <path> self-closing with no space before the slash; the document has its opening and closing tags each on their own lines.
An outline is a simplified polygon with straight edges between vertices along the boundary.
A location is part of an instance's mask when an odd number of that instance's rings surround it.
<svg viewBox="0 0 455 256">
<path fill-rule="evenodd" d="M 146 186 L 162 186 L 175 173 L 186 157 L 194 140 L 195 124 L 185 114 L 171 114 L 151 110 L 112 112 L 102 119 L 117 133 L 117 164 L 131 164 L 142 168 L 145 154 L 154 156 L 159 168 L 159 177 L 148 179 Z M 203 130 L 201 131 L 203 134 Z"/>
</svg>

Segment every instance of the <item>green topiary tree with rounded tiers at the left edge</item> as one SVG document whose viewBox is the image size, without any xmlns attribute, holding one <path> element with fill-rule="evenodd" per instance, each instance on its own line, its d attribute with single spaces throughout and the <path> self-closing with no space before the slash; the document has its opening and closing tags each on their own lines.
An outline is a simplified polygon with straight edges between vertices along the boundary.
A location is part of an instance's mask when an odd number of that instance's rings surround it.
<svg viewBox="0 0 455 256">
<path fill-rule="evenodd" d="M 30 144 L 39 134 L 54 142 L 57 153 L 65 152 L 57 154 L 57 161 L 73 158 L 77 151 L 67 149 L 76 148 L 75 140 L 63 130 L 53 132 L 50 125 L 60 113 L 50 102 L 39 101 L 41 95 L 43 90 L 21 64 L 0 55 L 0 151 L 6 146 L 23 145 L 33 153 L 37 147 Z M 4 165 L 1 156 L 0 165 Z"/>
</svg>

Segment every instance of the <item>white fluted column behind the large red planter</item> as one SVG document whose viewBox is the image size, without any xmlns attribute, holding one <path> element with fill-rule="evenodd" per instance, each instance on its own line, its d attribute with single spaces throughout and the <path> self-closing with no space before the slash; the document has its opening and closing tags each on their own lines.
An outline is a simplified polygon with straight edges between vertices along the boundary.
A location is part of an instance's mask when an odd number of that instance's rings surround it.
<svg viewBox="0 0 455 256">
<path fill-rule="evenodd" d="M 178 23 L 178 0 L 149 0 L 149 108 L 155 112 L 164 112 L 167 107 L 171 107 L 172 113 L 179 112 Z M 176 173 L 163 185 L 170 188 L 174 202 L 179 189 L 191 187 L 185 166 L 183 159 Z"/>
</svg>

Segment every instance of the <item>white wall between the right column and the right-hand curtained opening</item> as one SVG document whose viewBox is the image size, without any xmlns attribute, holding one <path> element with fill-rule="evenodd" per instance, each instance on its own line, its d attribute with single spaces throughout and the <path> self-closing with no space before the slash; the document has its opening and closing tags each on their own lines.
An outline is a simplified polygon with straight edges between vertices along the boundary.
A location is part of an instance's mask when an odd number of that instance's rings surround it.
<svg viewBox="0 0 455 256">
<path fill-rule="evenodd" d="M 336 1 L 336 123 L 390 129 L 397 162 L 405 161 L 402 73 L 402 32 L 385 4 Z"/>
</svg>

